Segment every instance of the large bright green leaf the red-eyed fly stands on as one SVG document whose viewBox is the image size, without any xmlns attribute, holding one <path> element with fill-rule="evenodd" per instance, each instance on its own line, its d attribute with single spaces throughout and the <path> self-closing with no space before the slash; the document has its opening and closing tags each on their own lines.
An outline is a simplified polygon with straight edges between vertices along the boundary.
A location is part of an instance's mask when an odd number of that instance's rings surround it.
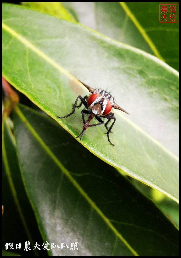
<svg viewBox="0 0 181 258">
<path fill-rule="evenodd" d="M 73 75 L 74 76 L 73 76 Z M 178 201 L 178 73 L 157 58 L 81 25 L 3 4 L 3 76 L 71 135 L 82 116 L 77 95 L 108 88 L 130 116 L 114 110 L 110 135 L 90 128 L 82 141 L 93 154 Z"/>
</svg>

